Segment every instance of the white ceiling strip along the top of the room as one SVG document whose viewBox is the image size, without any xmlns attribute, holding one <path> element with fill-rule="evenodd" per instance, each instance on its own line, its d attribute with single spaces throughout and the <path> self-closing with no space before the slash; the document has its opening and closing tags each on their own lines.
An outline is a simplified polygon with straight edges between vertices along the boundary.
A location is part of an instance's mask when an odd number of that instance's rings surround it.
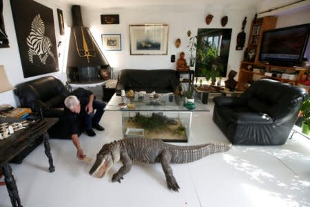
<svg viewBox="0 0 310 207">
<path fill-rule="evenodd" d="M 102 10 L 143 9 L 143 10 L 173 10 L 178 7 L 187 10 L 256 10 L 266 11 L 299 0 L 54 0 L 71 8 L 72 5 L 80 5 L 83 10 L 102 12 Z M 280 10 L 296 8 L 309 8 L 310 0 L 303 0 L 292 6 Z"/>
</svg>

